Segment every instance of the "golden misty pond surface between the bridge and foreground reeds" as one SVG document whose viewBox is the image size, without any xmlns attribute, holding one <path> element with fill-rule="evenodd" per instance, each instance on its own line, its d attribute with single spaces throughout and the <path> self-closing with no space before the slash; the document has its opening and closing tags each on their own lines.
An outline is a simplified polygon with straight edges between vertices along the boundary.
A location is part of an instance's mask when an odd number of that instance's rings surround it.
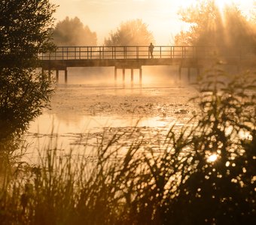
<svg viewBox="0 0 256 225">
<path fill-rule="evenodd" d="M 138 130 L 133 139 L 123 141 L 132 142 L 140 136 L 153 139 L 156 133 L 164 138 L 171 125 L 182 127 L 195 113 L 188 103 L 195 91 L 185 81 L 177 80 L 175 67 L 142 68 L 142 87 L 139 71 L 135 70 L 133 88 L 130 70 L 126 70 L 125 87 L 121 70 L 117 71 L 117 86 L 113 68 L 68 70 L 69 83 L 59 80 L 50 110 L 44 110 L 26 133 L 30 143 L 26 160 L 36 160 L 38 150 L 49 142 L 57 143 L 63 151 L 74 148 L 79 152 L 87 141 L 87 148 L 96 146 L 103 133 L 107 140 L 115 132 L 131 133 L 135 126 Z"/>
</svg>

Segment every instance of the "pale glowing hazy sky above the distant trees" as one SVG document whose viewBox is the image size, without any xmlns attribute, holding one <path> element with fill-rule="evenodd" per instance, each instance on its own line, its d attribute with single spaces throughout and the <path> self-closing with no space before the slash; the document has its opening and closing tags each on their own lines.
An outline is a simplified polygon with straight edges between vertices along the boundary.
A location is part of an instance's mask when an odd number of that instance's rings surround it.
<svg viewBox="0 0 256 225">
<path fill-rule="evenodd" d="M 110 31 L 116 31 L 121 22 L 142 19 L 153 32 L 157 45 L 172 43 L 178 31 L 187 28 L 177 15 L 180 7 L 187 7 L 197 0 L 50 0 L 56 5 L 56 20 L 78 17 L 84 25 L 96 31 L 98 44 L 104 42 Z M 222 7 L 232 0 L 216 0 Z M 253 0 L 236 1 L 248 13 Z"/>
</svg>

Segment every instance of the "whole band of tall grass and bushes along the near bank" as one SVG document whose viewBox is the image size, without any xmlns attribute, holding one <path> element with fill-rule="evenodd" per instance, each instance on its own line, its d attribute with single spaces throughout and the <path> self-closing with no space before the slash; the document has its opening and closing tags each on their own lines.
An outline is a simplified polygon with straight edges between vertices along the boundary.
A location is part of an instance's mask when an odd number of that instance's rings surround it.
<svg viewBox="0 0 256 225">
<path fill-rule="evenodd" d="M 120 151 L 115 134 L 91 161 L 48 148 L 37 166 L 5 174 L 0 223 L 255 224 L 254 77 L 212 68 L 198 84 L 195 125 L 174 125 L 159 151 L 143 139 Z"/>
</svg>

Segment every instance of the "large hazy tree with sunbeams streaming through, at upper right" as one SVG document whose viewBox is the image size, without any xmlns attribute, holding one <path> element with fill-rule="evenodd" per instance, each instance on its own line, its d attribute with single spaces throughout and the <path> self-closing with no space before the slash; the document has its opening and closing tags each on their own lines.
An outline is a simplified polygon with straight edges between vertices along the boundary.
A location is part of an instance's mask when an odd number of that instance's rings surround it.
<svg viewBox="0 0 256 225">
<path fill-rule="evenodd" d="M 203 0 L 179 14 L 183 22 L 190 24 L 190 30 L 176 35 L 175 44 L 221 46 L 221 49 L 254 46 L 256 28 L 236 5 L 228 5 L 221 11 L 214 0 Z"/>
</svg>

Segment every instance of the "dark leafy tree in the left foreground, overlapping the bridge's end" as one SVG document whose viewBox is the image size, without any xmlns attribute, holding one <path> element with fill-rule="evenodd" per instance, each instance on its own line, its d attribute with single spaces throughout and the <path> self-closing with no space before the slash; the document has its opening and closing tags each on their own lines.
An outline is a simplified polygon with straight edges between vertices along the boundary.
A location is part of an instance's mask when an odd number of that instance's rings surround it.
<svg viewBox="0 0 256 225">
<path fill-rule="evenodd" d="M 38 53 L 53 48 L 54 11 L 49 0 L 0 1 L 0 142 L 23 133 L 50 101 L 51 83 L 36 68 Z"/>
</svg>

